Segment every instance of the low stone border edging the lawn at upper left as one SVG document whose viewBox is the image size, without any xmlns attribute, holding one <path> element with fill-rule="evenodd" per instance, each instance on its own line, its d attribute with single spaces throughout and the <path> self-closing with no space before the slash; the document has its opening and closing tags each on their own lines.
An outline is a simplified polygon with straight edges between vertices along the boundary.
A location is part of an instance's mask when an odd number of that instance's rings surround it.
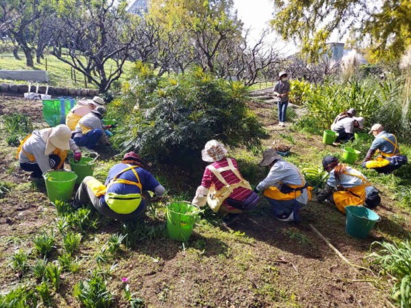
<svg viewBox="0 0 411 308">
<path fill-rule="evenodd" d="M 46 86 L 38 87 L 38 94 L 46 94 Z M 12 93 L 12 94 L 24 94 L 29 90 L 27 84 L 0 84 L 0 92 Z M 36 91 L 36 86 L 32 86 L 32 92 Z M 60 87 L 50 87 L 49 93 L 53 96 L 61 97 L 95 97 L 99 95 L 99 90 L 97 89 L 73 89 L 73 88 L 60 88 Z"/>
</svg>

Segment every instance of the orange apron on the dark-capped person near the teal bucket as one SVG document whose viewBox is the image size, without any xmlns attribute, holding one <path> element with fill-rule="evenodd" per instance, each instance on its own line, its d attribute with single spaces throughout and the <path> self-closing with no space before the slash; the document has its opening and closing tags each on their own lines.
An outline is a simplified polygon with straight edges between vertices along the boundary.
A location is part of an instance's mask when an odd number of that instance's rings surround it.
<svg viewBox="0 0 411 308">
<path fill-rule="evenodd" d="M 338 211 L 345 214 L 345 207 L 348 205 L 363 205 L 366 198 L 365 188 L 371 186 L 369 181 L 360 175 L 353 175 L 352 173 L 344 172 L 345 175 L 351 175 L 351 177 L 358 177 L 362 180 L 362 185 L 358 185 L 351 188 L 345 188 L 338 192 L 334 192 L 334 203 Z"/>
</svg>

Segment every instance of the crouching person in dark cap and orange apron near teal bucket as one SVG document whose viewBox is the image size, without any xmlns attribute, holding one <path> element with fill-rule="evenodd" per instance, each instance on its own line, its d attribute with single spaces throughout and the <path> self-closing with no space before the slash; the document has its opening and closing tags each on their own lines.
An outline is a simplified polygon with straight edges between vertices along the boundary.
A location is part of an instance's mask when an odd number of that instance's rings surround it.
<svg viewBox="0 0 411 308">
<path fill-rule="evenodd" d="M 378 191 L 366 177 L 360 171 L 340 164 L 338 157 L 325 156 L 323 167 L 329 172 L 329 178 L 325 188 L 317 194 L 317 202 L 328 199 L 343 214 L 348 205 L 365 205 L 373 209 L 381 202 Z"/>
</svg>

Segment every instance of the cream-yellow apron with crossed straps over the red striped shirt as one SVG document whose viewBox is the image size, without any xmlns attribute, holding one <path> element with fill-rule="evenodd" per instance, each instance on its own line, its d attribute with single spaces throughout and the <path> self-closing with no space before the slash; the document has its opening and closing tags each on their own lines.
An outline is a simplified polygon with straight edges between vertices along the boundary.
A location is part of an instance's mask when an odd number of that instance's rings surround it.
<svg viewBox="0 0 411 308">
<path fill-rule="evenodd" d="M 229 195 L 232 194 L 232 192 L 234 192 L 236 188 L 242 187 L 242 188 L 246 188 L 247 190 L 252 190 L 249 182 L 243 179 L 240 175 L 240 172 L 238 172 L 238 170 L 234 167 L 232 159 L 227 158 L 227 161 L 228 161 L 227 167 L 221 167 L 221 168 L 216 169 L 212 165 L 207 166 L 207 168 L 216 176 L 216 178 L 219 179 L 219 181 L 221 181 L 221 183 L 224 184 L 221 190 L 216 190 L 215 185 L 211 185 L 210 189 L 208 190 L 207 203 L 211 207 L 212 211 L 214 212 L 219 211 L 225 199 L 227 199 Z M 227 170 L 231 170 L 234 173 L 234 175 L 236 175 L 236 177 L 240 179 L 240 181 L 235 184 L 227 183 L 227 181 L 225 181 L 225 179 L 221 175 L 221 172 L 227 171 Z"/>
</svg>

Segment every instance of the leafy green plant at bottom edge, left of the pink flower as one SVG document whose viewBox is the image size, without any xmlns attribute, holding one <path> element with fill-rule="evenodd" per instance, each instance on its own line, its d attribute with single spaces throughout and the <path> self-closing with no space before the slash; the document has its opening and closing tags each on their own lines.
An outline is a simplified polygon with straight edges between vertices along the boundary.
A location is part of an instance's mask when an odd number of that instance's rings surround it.
<svg viewBox="0 0 411 308">
<path fill-rule="evenodd" d="M 75 285 L 74 296 L 86 308 L 108 308 L 113 302 L 113 296 L 107 290 L 103 277 L 97 272 L 93 272 L 87 281 L 79 281 Z"/>
</svg>

